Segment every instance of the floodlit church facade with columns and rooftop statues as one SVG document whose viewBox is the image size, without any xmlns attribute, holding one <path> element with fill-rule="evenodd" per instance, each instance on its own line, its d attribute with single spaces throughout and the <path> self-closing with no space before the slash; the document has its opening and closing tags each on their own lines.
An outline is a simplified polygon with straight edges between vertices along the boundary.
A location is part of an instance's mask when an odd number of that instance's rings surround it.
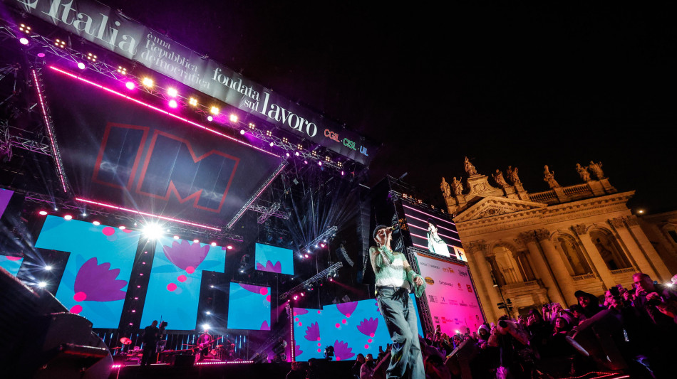
<svg viewBox="0 0 677 379">
<path fill-rule="evenodd" d="M 617 191 L 601 164 L 577 165 L 582 183 L 574 186 L 560 186 L 544 166 L 550 189 L 538 193 L 524 190 L 517 168 L 506 177 L 496 170 L 492 183 L 467 159 L 465 171 L 464 183 L 454 178 L 445 186 L 443 178 L 443 196 L 487 319 L 505 314 L 497 304 L 508 299 L 517 316 L 543 304 L 576 304 L 579 289 L 601 295 L 616 284 L 631 287 L 634 272 L 671 279 L 626 205 L 634 191 Z"/>
</svg>

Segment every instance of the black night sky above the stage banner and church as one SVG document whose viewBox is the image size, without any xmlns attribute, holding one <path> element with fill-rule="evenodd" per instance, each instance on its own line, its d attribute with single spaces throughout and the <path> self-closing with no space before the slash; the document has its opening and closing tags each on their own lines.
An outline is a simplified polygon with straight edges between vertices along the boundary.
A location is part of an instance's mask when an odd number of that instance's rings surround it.
<svg viewBox="0 0 677 379">
<path fill-rule="evenodd" d="M 547 190 L 544 164 L 568 186 L 594 160 L 633 209 L 677 209 L 667 5 L 103 3 L 382 144 L 370 186 L 408 173 L 441 204 L 464 156 L 519 167 L 529 192 Z"/>
</svg>

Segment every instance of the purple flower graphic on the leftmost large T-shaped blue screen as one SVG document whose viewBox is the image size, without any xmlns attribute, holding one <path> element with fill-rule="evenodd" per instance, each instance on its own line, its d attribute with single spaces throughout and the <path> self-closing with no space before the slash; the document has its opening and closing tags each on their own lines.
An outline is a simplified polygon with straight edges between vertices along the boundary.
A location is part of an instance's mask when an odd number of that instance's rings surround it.
<svg viewBox="0 0 677 379">
<path fill-rule="evenodd" d="M 116 279 L 120 269 L 110 269 L 110 263 L 98 265 L 96 257 L 84 263 L 78 270 L 73 291 L 76 301 L 115 301 L 125 299 L 122 290 L 127 285 L 125 280 Z"/>
</svg>

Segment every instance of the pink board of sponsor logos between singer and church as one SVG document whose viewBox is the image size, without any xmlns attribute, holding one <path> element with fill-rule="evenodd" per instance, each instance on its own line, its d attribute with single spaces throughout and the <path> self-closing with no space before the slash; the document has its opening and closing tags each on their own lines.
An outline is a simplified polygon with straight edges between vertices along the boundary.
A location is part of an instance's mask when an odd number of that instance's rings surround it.
<svg viewBox="0 0 677 379">
<path fill-rule="evenodd" d="M 465 333 L 466 327 L 477 331 L 485 319 L 467 266 L 420 254 L 417 259 L 420 274 L 428 284 L 425 294 L 433 324 L 448 335 Z"/>
</svg>

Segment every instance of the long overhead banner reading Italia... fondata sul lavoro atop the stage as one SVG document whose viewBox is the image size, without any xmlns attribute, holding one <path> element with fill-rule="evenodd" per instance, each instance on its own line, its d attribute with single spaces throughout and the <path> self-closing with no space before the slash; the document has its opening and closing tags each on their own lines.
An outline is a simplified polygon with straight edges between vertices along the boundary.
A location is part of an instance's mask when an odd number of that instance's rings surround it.
<svg viewBox="0 0 677 379">
<path fill-rule="evenodd" d="M 239 110 L 367 165 L 375 146 L 167 36 L 93 0 L 3 0 Z M 370 156 L 371 154 L 371 156 Z"/>
</svg>

